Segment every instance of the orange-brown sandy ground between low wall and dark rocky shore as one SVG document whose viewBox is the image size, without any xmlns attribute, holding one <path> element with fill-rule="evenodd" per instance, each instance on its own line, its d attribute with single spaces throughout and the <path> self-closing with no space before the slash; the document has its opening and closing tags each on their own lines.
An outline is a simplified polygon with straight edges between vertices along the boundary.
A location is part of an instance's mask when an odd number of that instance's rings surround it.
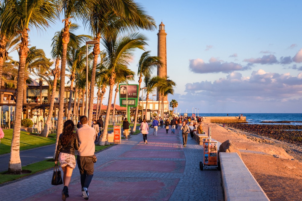
<svg viewBox="0 0 302 201">
<path fill-rule="evenodd" d="M 221 143 L 231 140 L 241 151 L 243 162 L 270 200 L 302 200 L 302 156 L 298 145 L 215 123 L 204 123 L 204 130 L 209 126 L 213 139 Z"/>
</svg>

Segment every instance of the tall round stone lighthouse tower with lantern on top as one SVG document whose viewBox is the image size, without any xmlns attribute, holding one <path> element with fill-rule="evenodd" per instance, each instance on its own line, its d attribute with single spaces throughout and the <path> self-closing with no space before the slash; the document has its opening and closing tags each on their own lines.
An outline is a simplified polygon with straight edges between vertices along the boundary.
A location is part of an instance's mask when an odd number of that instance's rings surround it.
<svg viewBox="0 0 302 201">
<path fill-rule="evenodd" d="M 166 77 L 167 76 L 167 44 L 166 44 L 165 25 L 161 23 L 159 25 L 159 30 L 157 33 L 157 56 L 160 57 L 162 66 L 157 66 L 157 76 Z M 157 101 L 161 101 L 162 98 L 157 92 Z M 168 97 L 164 97 L 164 101 L 168 101 Z"/>
</svg>

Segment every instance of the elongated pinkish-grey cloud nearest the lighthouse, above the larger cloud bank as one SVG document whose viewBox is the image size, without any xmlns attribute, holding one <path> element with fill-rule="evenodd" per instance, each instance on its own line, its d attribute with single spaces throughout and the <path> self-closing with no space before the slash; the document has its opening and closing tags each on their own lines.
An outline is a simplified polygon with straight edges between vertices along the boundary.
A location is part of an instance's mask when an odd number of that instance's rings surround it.
<svg viewBox="0 0 302 201">
<path fill-rule="evenodd" d="M 205 63 L 202 59 L 189 60 L 189 69 L 194 73 L 230 73 L 234 70 L 247 70 L 247 67 L 243 67 L 234 62 L 223 62 L 217 58 L 210 58 L 209 63 Z"/>
</svg>

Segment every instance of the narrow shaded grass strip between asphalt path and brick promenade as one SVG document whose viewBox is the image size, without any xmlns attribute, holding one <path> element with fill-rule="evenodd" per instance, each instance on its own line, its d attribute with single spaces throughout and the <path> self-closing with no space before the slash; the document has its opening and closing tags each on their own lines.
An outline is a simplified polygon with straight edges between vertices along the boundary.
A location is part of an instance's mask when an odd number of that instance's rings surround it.
<svg viewBox="0 0 302 201">
<path fill-rule="evenodd" d="M 95 153 L 107 148 L 107 147 L 111 147 L 113 144 L 110 144 L 110 145 L 104 145 L 104 146 L 101 146 L 101 145 L 95 145 Z M 14 180 L 17 180 L 17 179 L 20 179 L 20 178 L 23 178 L 23 177 L 26 177 L 26 176 L 29 176 L 29 175 L 33 175 L 33 174 L 36 174 L 38 172 L 42 172 L 44 170 L 47 170 L 47 169 L 50 169 L 50 168 L 53 168 L 54 166 L 54 162 L 53 162 L 53 159 L 47 159 L 47 160 L 43 160 L 43 161 L 40 161 L 40 162 L 35 162 L 35 163 L 32 163 L 30 165 L 25 165 L 25 166 L 22 166 L 22 170 L 28 170 L 28 171 L 31 171 L 31 173 L 28 173 L 28 174 L 24 174 L 24 175 L 7 175 L 7 171 L 4 171 L 4 172 L 0 172 L 0 184 L 3 184 L 3 183 L 6 183 L 6 182 L 9 182 L 9 181 L 14 181 Z M 61 168 L 60 168 L 61 170 Z M 62 172 L 63 174 L 63 172 Z M 63 176 L 63 175 L 62 175 Z M 50 182 L 50 181 L 49 181 Z"/>
</svg>

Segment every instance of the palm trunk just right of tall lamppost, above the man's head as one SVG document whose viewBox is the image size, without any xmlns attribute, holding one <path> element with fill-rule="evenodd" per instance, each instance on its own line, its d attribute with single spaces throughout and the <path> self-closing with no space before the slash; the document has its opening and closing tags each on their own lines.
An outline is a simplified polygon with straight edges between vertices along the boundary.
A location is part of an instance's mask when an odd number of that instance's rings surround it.
<svg viewBox="0 0 302 201">
<path fill-rule="evenodd" d="M 98 44 L 94 45 L 93 48 L 93 65 L 92 65 L 92 73 L 91 73 L 91 81 L 90 81 L 90 97 L 89 97 L 89 110 L 88 110 L 88 122 L 92 122 L 92 112 L 93 112 L 93 98 L 94 98 L 94 87 L 95 87 L 95 71 L 96 65 L 98 63 L 98 55 L 100 54 L 100 34 L 94 38 L 94 40 L 98 41 Z"/>
</svg>

